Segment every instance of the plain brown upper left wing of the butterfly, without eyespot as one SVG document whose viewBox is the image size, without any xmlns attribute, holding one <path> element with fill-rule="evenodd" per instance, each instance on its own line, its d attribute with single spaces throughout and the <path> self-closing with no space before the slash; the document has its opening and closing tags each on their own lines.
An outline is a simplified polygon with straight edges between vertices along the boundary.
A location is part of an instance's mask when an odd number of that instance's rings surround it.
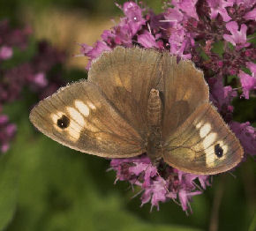
<svg viewBox="0 0 256 231">
<path fill-rule="evenodd" d="M 161 79 L 162 54 L 153 49 L 117 47 L 103 53 L 88 73 L 125 120 L 146 140 L 147 100 Z"/>
</svg>

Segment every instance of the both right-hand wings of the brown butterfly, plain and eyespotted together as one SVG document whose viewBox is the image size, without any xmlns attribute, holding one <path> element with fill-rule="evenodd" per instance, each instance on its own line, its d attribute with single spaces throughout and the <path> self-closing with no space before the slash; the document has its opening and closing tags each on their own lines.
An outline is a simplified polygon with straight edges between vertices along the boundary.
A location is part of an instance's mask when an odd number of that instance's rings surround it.
<svg viewBox="0 0 256 231">
<path fill-rule="evenodd" d="M 209 102 L 203 73 L 191 62 L 162 59 L 163 160 L 185 172 L 212 175 L 234 168 L 243 148 Z"/>
</svg>

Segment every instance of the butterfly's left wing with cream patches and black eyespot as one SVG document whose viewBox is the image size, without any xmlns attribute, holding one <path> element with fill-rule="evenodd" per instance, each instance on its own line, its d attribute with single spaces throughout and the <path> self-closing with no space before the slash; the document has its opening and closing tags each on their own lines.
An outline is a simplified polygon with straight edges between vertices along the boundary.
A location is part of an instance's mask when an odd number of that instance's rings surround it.
<svg viewBox="0 0 256 231">
<path fill-rule="evenodd" d="M 83 153 L 124 158 L 145 152 L 139 133 L 87 80 L 40 101 L 30 120 L 49 138 Z"/>
</svg>

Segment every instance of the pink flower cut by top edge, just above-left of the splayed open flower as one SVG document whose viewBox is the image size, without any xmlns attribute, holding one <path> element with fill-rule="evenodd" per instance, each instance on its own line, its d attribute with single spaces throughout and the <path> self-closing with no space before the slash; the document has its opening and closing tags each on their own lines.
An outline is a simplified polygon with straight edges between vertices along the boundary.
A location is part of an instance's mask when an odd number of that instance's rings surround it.
<svg viewBox="0 0 256 231">
<path fill-rule="evenodd" d="M 224 0 L 207 0 L 209 7 L 211 8 L 211 19 L 216 19 L 218 14 L 222 15 L 222 19 L 225 22 L 230 21 L 230 15 L 228 14 L 226 7 L 232 6 L 232 1 L 224 1 Z"/>
</svg>

